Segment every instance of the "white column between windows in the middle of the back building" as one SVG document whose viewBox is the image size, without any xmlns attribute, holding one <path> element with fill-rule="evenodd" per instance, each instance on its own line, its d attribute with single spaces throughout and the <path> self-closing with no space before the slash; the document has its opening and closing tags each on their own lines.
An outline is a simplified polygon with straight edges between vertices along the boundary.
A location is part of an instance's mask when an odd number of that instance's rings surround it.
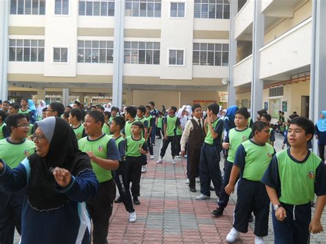
<svg viewBox="0 0 326 244">
<path fill-rule="evenodd" d="M 113 93 L 112 104 L 122 106 L 122 78 L 124 53 L 124 0 L 115 1 L 114 5 L 114 57 L 113 57 Z"/>
</svg>

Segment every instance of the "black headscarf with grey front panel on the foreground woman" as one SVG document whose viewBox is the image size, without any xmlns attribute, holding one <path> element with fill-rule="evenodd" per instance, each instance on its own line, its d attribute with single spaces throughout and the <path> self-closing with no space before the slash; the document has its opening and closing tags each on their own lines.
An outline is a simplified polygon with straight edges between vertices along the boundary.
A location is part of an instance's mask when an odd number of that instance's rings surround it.
<svg viewBox="0 0 326 244">
<path fill-rule="evenodd" d="M 35 210 L 55 210 L 64 206 L 69 199 L 67 195 L 56 191 L 56 181 L 49 169 L 65 168 L 76 177 L 81 171 L 91 169 L 91 162 L 86 153 L 78 150 L 76 135 L 65 120 L 46 118 L 37 123 L 34 124 L 35 129 L 39 126 L 41 130 L 44 129 L 43 133 L 47 132 L 45 137 L 50 142 L 50 148 L 45 157 L 36 153 L 28 157 L 31 171 L 27 197 Z"/>
</svg>

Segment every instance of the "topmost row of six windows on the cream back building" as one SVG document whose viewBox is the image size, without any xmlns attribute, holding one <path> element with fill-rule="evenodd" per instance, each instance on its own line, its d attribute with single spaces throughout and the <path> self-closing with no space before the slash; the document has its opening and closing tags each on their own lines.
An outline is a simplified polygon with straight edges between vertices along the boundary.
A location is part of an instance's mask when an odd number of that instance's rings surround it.
<svg viewBox="0 0 326 244">
<path fill-rule="evenodd" d="M 79 0 L 80 16 L 114 16 L 115 0 Z M 55 0 L 54 14 L 68 15 L 69 0 Z M 160 17 L 161 0 L 125 0 L 125 16 Z M 230 19 L 228 0 L 195 0 L 194 17 Z M 10 0 L 10 14 L 45 14 L 45 0 Z M 186 2 L 171 1 L 170 17 L 185 18 Z"/>
</svg>

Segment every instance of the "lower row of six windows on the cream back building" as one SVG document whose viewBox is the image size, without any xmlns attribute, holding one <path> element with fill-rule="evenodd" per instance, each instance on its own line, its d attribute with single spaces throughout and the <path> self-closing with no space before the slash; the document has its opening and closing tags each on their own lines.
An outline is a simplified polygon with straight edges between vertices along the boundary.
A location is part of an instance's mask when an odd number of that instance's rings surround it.
<svg viewBox="0 0 326 244">
<path fill-rule="evenodd" d="M 9 60 L 44 62 L 44 40 L 10 39 Z M 78 63 L 113 63 L 113 41 L 78 41 Z M 169 65 L 184 65 L 184 49 L 169 49 Z M 68 63 L 68 48 L 53 47 L 54 63 Z M 124 63 L 160 65 L 160 43 L 124 42 Z M 228 66 L 228 44 L 193 43 L 193 65 Z"/>
</svg>

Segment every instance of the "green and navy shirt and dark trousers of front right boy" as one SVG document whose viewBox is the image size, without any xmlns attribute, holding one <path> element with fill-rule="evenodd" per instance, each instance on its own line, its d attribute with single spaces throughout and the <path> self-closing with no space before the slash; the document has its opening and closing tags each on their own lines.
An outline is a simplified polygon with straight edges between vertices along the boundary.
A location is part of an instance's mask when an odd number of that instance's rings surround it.
<svg viewBox="0 0 326 244">
<path fill-rule="evenodd" d="M 326 195 L 326 171 L 320 157 L 308 150 L 305 159 L 298 161 L 287 148 L 274 155 L 261 181 L 276 190 L 286 210 L 283 221 L 272 210 L 275 243 L 309 243 L 310 202 L 315 194 Z"/>
</svg>

